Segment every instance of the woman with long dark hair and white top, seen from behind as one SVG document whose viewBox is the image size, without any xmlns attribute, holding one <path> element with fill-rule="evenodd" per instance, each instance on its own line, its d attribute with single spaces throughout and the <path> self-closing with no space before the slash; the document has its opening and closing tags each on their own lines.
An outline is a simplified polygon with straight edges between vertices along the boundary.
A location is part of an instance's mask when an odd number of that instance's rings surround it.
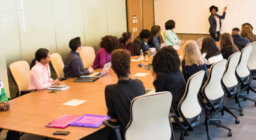
<svg viewBox="0 0 256 140">
<path fill-rule="evenodd" d="M 206 60 L 207 68 L 211 68 L 212 64 L 215 62 L 223 60 L 215 40 L 211 37 L 203 38 L 201 53 L 204 60 Z"/>
</svg>

